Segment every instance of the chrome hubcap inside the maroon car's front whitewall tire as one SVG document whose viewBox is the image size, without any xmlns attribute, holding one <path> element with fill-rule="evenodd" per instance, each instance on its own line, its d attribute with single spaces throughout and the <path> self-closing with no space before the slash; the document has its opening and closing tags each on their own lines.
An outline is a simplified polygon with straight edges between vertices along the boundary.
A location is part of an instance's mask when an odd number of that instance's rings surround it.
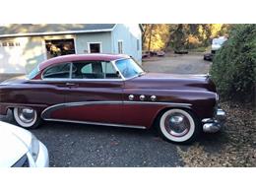
<svg viewBox="0 0 256 192">
<path fill-rule="evenodd" d="M 189 119 L 181 113 L 168 115 L 164 121 L 166 131 L 175 137 L 186 135 L 190 129 Z"/>
</svg>

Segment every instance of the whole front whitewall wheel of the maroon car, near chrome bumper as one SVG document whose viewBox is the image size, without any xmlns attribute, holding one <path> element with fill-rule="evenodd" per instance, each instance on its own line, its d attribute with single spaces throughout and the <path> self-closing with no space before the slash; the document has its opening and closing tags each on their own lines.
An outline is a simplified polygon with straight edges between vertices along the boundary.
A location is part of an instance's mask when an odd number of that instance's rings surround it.
<svg viewBox="0 0 256 192">
<path fill-rule="evenodd" d="M 198 137 L 201 129 L 197 117 L 191 111 L 173 108 L 160 115 L 159 132 L 169 142 L 188 144 Z"/>
</svg>

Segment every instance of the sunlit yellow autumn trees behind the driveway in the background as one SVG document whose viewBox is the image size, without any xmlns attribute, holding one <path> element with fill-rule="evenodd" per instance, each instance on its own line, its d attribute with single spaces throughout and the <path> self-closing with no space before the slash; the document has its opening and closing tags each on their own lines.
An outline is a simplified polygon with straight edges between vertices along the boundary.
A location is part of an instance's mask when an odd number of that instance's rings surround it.
<svg viewBox="0 0 256 192">
<path fill-rule="evenodd" d="M 222 24 L 144 24 L 144 50 L 193 49 L 207 47 L 212 38 L 228 32 Z"/>
</svg>

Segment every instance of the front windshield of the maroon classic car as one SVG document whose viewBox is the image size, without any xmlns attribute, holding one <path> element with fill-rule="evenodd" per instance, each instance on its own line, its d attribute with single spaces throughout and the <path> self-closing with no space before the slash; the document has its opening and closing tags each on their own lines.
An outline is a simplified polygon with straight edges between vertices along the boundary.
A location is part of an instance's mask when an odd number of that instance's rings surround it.
<svg viewBox="0 0 256 192">
<path fill-rule="evenodd" d="M 145 73 L 133 59 L 122 59 L 115 62 L 116 67 L 124 78 L 132 78 Z"/>
</svg>

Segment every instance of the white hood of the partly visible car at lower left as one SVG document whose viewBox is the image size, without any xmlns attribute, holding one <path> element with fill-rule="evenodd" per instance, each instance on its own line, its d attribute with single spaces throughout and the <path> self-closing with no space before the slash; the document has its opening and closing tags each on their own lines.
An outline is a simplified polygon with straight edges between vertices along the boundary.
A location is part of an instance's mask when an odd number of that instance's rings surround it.
<svg viewBox="0 0 256 192">
<path fill-rule="evenodd" d="M 10 167 L 28 153 L 32 134 L 0 121 L 0 167 Z"/>
</svg>

